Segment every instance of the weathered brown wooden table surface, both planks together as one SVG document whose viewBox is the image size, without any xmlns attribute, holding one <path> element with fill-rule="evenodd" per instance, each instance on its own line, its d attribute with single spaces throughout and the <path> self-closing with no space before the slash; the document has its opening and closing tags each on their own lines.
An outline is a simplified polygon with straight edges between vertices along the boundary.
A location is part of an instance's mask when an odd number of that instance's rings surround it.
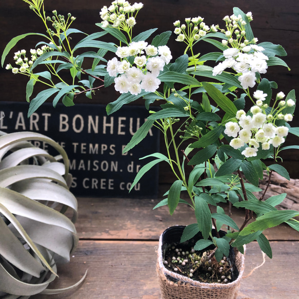
<svg viewBox="0 0 299 299">
<path fill-rule="evenodd" d="M 59 278 L 50 285 L 59 289 L 78 287 L 56 295 L 35 295 L 32 299 L 159 299 L 155 272 L 158 237 L 169 226 L 195 223 L 192 210 L 180 206 L 172 216 L 167 207 L 152 210 L 158 200 L 124 198 L 78 198 L 76 223 L 79 245 L 69 264 L 58 267 Z M 243 211 L 234 220 L 242 223 Z M 263 262 L 257 243 L 247 246 L 245 274 L 237 299 L 299 299 L 299 232 L 280 226 L 265 232 L 273 258 Z"/>
</svg>

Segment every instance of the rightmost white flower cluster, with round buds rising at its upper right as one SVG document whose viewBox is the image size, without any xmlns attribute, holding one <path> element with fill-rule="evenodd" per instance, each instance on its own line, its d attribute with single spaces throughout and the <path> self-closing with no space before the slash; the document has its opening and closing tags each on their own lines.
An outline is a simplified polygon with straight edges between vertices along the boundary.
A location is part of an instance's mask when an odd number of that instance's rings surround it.
<svg viewBox="0 0 299 299">
<path fill-rule="evenodd" d="M 258 101 L 264 101 L 267 96 L 261 90 L 254 92 L 253 96 Z M 277 94 L 276 99 L 284 97 L 283 92 Z M 293 119 L 292 114 L 283 114 L 281 111 L 286 107 L 294 106 L 295 102 L 292 99 L 281 101 L 278 104 L 279 110 L 275 115 L 266 114 L 266 104 L 263 107 L 257 105 L 250 108 L 250 113 L 244 110 L 238 110 L 236 113 L 237 122 L 228 122 L 225 125 L 224 133 L 230 137 L 234 137 L 230 141 L 230 146 L 234 149 L 239 149 L 247 144 L 248 146 L 242 151 L 245 157 L 254 157 L 257 155 L 258 149 L 268 150 L 270 145 L 278 147 L 285 142 L 288 135 L 288 128 L 285 126 L 276 126 L 276 119 L 284 119 L 285 122 L 290 122 Z M 274 113 L 274 112 L 273 112 Z"/>
</svg>

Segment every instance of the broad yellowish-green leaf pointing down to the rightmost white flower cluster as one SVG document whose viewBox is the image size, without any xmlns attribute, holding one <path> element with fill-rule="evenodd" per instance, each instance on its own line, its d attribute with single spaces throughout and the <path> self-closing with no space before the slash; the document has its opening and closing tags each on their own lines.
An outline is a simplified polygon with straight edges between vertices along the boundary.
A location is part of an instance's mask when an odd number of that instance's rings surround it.
<svg viewBox="0 0 299 299">
<path fill-rule="evenodd" d="M 231 117 L 236 116 L 237 108 L 233 102 L 213 85 L 203 82 L 203 86 L 216 104 Z"/>
</svg>

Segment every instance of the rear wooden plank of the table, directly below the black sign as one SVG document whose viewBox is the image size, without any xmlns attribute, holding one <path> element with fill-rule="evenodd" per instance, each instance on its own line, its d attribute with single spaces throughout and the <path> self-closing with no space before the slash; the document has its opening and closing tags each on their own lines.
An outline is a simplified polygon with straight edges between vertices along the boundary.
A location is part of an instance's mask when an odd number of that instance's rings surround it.
<svg viewBox="0 0 299 299">
<path fill-rule="evenodd" d="M 97 240 L 158 240 L 167 227 L 196 223 L 194 212 L 187 205 L 179 205 L 172 216 L 167 206 L 152 210 L 159 201 L 80 197 L 76 223 L 79 237 Z M 227 207 L 224 208 L 227 210 Z M 244 210 L 234 209 L 233 219 L 240 227 L 244 220 Z M 269 240 L 299 240 L 299 232 L 288 225 L 268 229 L 265 234 Z"/>
</svg>

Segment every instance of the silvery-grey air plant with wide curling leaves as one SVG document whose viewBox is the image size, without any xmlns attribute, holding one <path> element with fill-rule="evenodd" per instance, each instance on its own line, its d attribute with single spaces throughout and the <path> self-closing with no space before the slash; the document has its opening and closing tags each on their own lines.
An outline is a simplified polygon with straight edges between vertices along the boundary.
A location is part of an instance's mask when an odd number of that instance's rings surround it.
<svg viewBox="0 0 299 299">
<path fill-rule="evenodd" d="M 31 141 L 47 143 L 58 155 Z M 0 297 L 55 294 L 83 281 L 48 288 L 57 277 L 57 263 L 69 262 L 78 243 L 68 163 L 64 149 L 45 135 L 0 131 Z"/>
</svg>

